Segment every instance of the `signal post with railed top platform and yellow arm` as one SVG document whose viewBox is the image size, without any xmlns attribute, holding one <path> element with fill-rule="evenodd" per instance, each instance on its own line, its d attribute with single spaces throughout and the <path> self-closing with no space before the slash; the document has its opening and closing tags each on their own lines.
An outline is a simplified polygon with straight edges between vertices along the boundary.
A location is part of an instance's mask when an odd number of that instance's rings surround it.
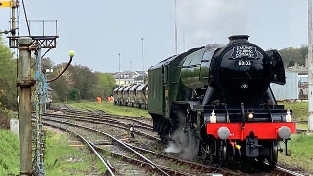
<svg viewBox="0 0 313 176">
<path fill-rule="evenodd" d="M 31 78 L 31 52 L 39 48 L 47 48 L 48 50 L 41 55 L 41 58 L 53 48 L 56 48 L 57 24 L 55 35 L 31 35 L 29 22 L 26 17 L 28 27 L 27 36 L 16 36 L 16 14 L 15 10 L 20 7 L 19 0 L 0 0 L 0 8 L 11 8 L 11 29 L 5 31 L 5 34 L 11 33 L 9 38 L 9 47 L 18 49 L 18 81 L 17 86 L 20 87 L 19 100 L 19 134 L 20 134 L 20 176 L 31 176 L 33 170 L 32 162 L 32 124 L 31 124 L 31 87 L 35 85 L 35 80 Z M 22 21 L 20 21 L 22 22 Z M 38 21 L 37 21 L 38 22 Z M 44 20 L 43 31 L 44 31 Z M 19 23 L 19 22 L 18 22 Z M 57 23 L 57 21 L 55 21 Z M 41 61 L 40 61 L 41 62 Z M 41 136 L 42 137 L 42 136 Z M 42 152 L 42 151 L 41 151 Z M 42 163 L 42 156 L 40 162 Z"/>
</svg>

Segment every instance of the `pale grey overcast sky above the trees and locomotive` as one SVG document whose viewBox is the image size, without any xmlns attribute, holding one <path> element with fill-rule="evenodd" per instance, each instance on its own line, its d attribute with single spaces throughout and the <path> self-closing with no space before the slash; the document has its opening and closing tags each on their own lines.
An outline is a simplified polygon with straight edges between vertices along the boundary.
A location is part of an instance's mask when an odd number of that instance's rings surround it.
<svg viewBox="0 0 313 176">
<path fill-rule="evenodd" d="M 20 20 L 24 20 L 22 0 Z M 25 0 L 29 20 L 57 20 L 57 48 L 46 56 L 94 71 L 142 70 L 175 54 L 174 0 Z M 8 29 L 10 9 L 0 8 L 0 29 Z M 178 53 L 210 43 L 227 44 L 230 35 L 248 34 L 260 47 L 281 49 L 307 44 L 308 0 L 177 0 Z M 43 35 L 41 22 L 31 22 L 31 34 Z M 45 35 L 55 35 L 55 23 L 45 22 Z M 20 35 L 27 26 L 20 23 Z"/>
</svg>

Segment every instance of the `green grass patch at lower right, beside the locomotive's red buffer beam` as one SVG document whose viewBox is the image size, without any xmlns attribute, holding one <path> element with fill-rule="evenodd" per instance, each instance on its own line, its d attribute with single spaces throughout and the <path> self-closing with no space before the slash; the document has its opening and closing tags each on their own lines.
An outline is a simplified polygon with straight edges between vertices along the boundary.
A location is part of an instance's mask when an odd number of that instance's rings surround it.
<svg viewBox="0 0 313 176">
<path fill-rule="evenodd" d="M 293 166 L 299 166 L 304 169 L 313 171 L 313 135 L 294 134 L 288 141 L 288 152 L 291 156 L 279 154 L 278 160 Z M 285 144 L 281 143 L 281 147 L 285 149 Z"/>
</svg>

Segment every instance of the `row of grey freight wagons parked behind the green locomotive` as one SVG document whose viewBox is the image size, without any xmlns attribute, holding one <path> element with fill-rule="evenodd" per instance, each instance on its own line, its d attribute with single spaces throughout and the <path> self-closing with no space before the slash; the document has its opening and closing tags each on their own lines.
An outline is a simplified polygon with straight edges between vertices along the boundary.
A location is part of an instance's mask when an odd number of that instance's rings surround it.
<svg viewBox="0 0 313 176">
<path fill-rule="evenodd" d="M 134 84 L 113 90 L 114 104 L 137 108 L 148 108 L 148 85 Z"/>
</svg>

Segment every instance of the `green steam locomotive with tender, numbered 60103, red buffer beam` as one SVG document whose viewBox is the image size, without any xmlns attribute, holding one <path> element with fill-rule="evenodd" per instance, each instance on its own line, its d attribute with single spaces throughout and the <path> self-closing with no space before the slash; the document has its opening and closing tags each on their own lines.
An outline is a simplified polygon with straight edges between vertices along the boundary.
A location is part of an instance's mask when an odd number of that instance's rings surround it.
<svg viewBox="0 0 313 176">
<path fill-rule="evenodd" d="M 174 55 L 148 70 L 148 112 L 163 140 L 184 132 L 186 150 L 225 166 L 268 160 L 295 133 L 292 110 L 278 105 L 270 83 L 285 85 L 277 50 L 264 51 L 247 35 Z M 286 151 L 287 154 L 287 151 Z"/>
</svg>

